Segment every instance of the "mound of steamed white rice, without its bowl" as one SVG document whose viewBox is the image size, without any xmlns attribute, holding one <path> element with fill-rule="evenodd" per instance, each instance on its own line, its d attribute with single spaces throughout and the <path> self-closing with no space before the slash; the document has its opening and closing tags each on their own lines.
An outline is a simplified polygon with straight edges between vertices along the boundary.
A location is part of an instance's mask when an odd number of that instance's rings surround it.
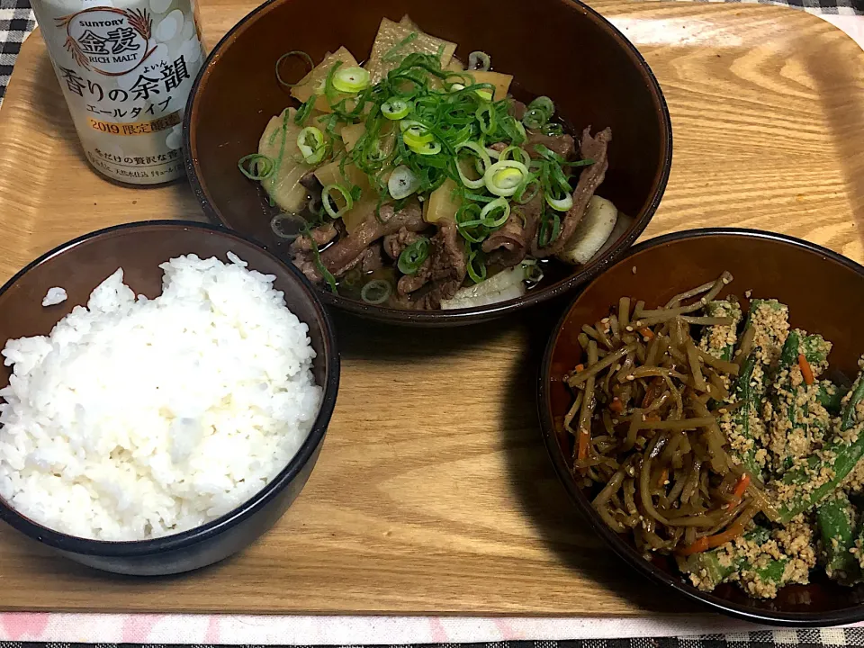
<svg viewBox="0 0 864 648">
<path fill-rule="evenodd" d="M 272 275 L 172 259 L 155 300 L 122 269 L 49 337 L 9 340 L 0 495 L 73 536 L 139 540 L 218 518 L 302 445 L 322 391 Z"/>
</svg>

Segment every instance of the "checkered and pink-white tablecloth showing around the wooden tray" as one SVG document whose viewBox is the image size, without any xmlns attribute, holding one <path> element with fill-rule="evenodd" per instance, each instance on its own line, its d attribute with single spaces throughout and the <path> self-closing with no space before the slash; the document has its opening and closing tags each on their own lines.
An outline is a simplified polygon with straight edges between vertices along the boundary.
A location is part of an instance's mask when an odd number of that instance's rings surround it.
<svg viewBox="0 0 864 648">
<path fill-rule="evenodd" d="M 864 18 L 850 18 L 864 16 L 864 0 L 725 1 L 788 5 L 821 14 L 864 47 Z M 0 0 L 0 102 L 21 44 L 34 27 L 28 0 Z M 527 619 L 0 614 L 0 648 L 211 648 L 224 644 L 250 648 L 284 644 L 388 648 L 455 648 L 457 644 L 465 648 L 864 648 L 864 626 L 770 630 L 707 615 Z"/>
</svg>

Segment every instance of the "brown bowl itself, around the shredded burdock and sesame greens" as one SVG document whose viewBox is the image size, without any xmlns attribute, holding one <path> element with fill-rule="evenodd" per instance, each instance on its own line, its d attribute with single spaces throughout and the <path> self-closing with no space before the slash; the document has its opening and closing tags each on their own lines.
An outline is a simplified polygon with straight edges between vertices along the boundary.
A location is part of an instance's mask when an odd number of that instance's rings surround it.
<svg viewBox="0 0 864 648">
<path fill-rule="evenodd" d="M 645 561 L 631 542 L 609 529 L 572 477 L 572 437 L 561 425 L 572 395 L 563 374 L 572 371 L 581 357 L 576 336 L 582 325 L 606 317 L 619 297 L 644 300 L 649 308 L 662 306 L 672 295 L 716 279 L 724 270 L 734 275 L 725 293 L 743 298 L 745 291 L 752 290 L 788 304 L 793 327 L 820 333 L 833 342 L 830 360 L 834 368 L 851 376 L 858 373 L 864 338 L 854 322 L 864 319 L 864 267 L 824 247 L 769 232 L 682 231 L 634 247 L 594 280 L 564 314 L 546 347 L 540 373 L 538 408 L 546 448 L 564 487 L 591 527 L 652 581 L 717 611 L 759 623 L 833 626 L 861 621 L 864 586 L 844 588 L 824 577 L 806 586 L 787 586 L 777 599 L 768 601 L 752 599 L 731 584 L 710 594 L 697 590 L 673 564 L 662 559 Z"/>
</svg>

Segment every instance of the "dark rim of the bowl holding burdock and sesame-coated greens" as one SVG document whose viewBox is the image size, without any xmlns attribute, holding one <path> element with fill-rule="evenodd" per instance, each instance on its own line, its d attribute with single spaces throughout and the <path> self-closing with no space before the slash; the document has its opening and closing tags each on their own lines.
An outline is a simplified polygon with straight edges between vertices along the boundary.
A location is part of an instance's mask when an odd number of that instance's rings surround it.
<svg viewBox="0 0 864 648">
<path fill-rule="evenodd" d="M 851 269 L 853 272 L 864 278 L 864 266 L 852 261 L 849 257 L 844 257 L 837 252 L 834 252 L 827 247 L 820 246 L 816 243 L 811 243 L 802 238 L 795 238 L 786 234 L 765 231 L 761 229 L 746 229 L 746 228 L 702 228 L 702 229 L 684 229 L 671 234 L 666 234 L 657 238 L 649 238 L 639 245 L 630 248 L 627 254 L 621 257 L 614 266 L 623 266 L 629 262 L 631 257 L 640 252 L 652 248 L 661 247 L 668 243 L 678 242 L 691 238 L 706 238 L 718 236 L 733 236 L 742 238 L 759 238 L 770 241 L 776 244 L 798 247 L 811 254 L 823 257 L 825 261 L 833 261 Z M 654 583 L 670 587 L 676 590 L 679 594 L 687 599 L 698 601 L 703 605 L 707 605 L 712 611 L 722 612 L 731 617 L 737 617 L 745 621 L 753 623 L 761 623 L 771 626 L 791 626 L 791 627 L 818 627 L 818 626 L 840 626 L 844 624 L 856 623 L 864 620 L 864 604 L 852 606 L 850 608 L 841 608 L 830 612 L 782 612 L 775 610 L 761 610 L 752 608 L 748 605 L 735 603 L 726 599 L 721 599 L 711 592 L 703 592 L 695 587 L 677 578 L 661 569 L 653 566 L 648 561 L 638 554 L 633 547 L 627 545 L 617 534 L 612 531 L 599 518 L 597 513 L 590 505 L 590 501 L 586 498 L 581 489 L 572 479 L 569 468 L 564 460 L 563 454 L 560 451 L 558 442 L 555 437 L 554 421 L 551 408 L 549 406 L 550 398 L 550 381 L 549 376 L 552 370 L 552 356 L 555 347 L 557 347 L 558 339 L 564 329 L 564 325 L 570 316 L 576 303 L 581 299 L 582 294 L 590 290 L 590 288 L 599 281 L 599 277 L 595 281 L 588 284 L 572 302 L 570 302 L 563 311 L 563 315 L 555 325 L 548 342 L 546 343 L 543 362 L 540 366 L 540 372 L 537 377 L 538 397 L 537 397 L 537 413 L 540 419 L 540 434 L 543 437 L 543 442 L 546 451 L 552 460 L 554 471 L 558 478 L 563 483 L 564 490 L 570 496 L 570 500 L 579 509 L 583 518 L 587 519 L 590 527 L 597 533 L 612 549 L 615 554 L 626 563 L 628 563 L 637 572 L 640 572 L 644 577 Z M 610 302 L 611 303 L 611 302 Z"/>
</svg>

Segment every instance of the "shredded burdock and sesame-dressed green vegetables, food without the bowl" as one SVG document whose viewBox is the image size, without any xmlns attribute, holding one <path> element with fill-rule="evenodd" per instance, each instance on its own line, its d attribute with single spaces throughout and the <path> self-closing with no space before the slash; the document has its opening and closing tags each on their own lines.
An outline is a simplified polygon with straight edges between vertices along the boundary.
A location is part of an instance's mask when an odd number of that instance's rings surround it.
<svg viewBox="0 0 864 648">
<path fill-rule="evenodd" d="M 700 590 L 864 581 L 864 373 L 828 380 L 831 342 L 777 300 L 718 299 L 731 282 L 662 308 L 622 297 L 582 327 L 573 474 L 608 527 Z"/>
</svg>

